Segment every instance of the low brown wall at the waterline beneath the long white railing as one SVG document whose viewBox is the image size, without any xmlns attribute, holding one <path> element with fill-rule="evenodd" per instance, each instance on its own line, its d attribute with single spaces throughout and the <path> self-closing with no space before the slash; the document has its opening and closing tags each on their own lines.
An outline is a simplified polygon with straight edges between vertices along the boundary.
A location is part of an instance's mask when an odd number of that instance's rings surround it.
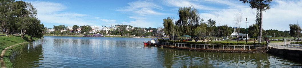
<svg viewBox="0 0 302 68">
<path fill-rule="evenodd" d="M 165 46 L 165 48 L 179 49 L 179 50 L 188 50 L 188 51 L 200 51 L 200 52 L 227 52 L 227 53 L 265 53 L 265 50 L 217 50 L 217 49 L 195 49 L 195 48 L 184 48 L 184 47 L 174 47 L 174 46 Z"/>
</svg>

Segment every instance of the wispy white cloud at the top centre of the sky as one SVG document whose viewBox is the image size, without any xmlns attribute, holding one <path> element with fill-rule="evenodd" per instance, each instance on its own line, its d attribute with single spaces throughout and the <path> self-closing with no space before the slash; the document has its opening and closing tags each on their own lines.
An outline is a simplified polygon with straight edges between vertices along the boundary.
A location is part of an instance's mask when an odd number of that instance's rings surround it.
<svg viewBox="0 0 302 68">
<path fill-rule="evenodd" d="M 135 1 L 128 3 L 130 6 L 122 7 L 117 9 L 117 11 L 134 13 L 135 15 L 162 15 L 163 13 L 159 13 L 154 11 L 153 9 L 162 10 L 162 7 L 154 4 L 153 2 L 148 1 Z"/>
</svg>

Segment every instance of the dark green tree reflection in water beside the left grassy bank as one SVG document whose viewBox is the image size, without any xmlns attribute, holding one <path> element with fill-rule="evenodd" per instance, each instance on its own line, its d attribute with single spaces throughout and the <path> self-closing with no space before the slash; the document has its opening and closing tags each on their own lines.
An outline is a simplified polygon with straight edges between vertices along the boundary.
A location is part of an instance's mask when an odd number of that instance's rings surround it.
<svg viewBox="0 0 302 68">
<path fill-rule="evenodd" d="M 43 64 L 40 60 L 44 59 L 42 48 L 43 46 L 37 43 L 29 43 L 18 47 L 11 54 L 14 67 L 39 67 L 40 64 Z"/>
</svg>

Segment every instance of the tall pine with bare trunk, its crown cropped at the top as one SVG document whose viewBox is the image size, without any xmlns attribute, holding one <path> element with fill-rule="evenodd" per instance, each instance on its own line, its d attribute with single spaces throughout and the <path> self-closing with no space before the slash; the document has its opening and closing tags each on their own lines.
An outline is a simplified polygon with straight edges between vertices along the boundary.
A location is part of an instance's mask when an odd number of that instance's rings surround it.
<svg viewBox="0 0 302 68">
<path fill-rule="evenodd" d="M 259 40 L 258 42 L 261 43 L 261 37 L 262 37 L 262 12 L 265 10 L 270 9 L 270 3 L 272 0 L 239 0 L 243 1 L 243 3 L 249 3 L 249 7 L 256 8 L 260 11 L 260 20 L 259 20 Z"/>
</svg>

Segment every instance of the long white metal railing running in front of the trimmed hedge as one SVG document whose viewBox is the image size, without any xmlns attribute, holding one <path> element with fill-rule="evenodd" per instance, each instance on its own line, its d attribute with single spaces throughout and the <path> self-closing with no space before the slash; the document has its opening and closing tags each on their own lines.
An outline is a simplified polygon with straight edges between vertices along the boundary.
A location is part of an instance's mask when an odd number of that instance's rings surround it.
<svg viewBox="0 0 302 68">
<path fill-rule="evenodd" d="M 194 48 L 194 49 L 216 49 L 216 50 L 265 50 L 264 45 L 212 45 L 212 44 L 189 44 L 157 42 L 159 45 Z"/>
</svg>

